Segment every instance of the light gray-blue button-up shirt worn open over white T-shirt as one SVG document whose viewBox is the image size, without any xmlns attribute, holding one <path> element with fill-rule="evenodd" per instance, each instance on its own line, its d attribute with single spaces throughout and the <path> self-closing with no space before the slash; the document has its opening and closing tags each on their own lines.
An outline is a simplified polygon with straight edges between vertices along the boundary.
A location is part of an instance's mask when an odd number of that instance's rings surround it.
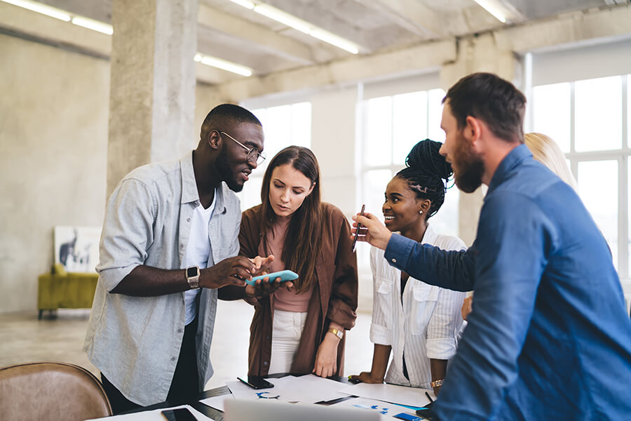
<svg viewBox="0 0 631 421">
<path fill-rule="evenodd" d="M 208 225 L 208 267 L 239 250 L 236 195 L 222 183 Z M 184 293 L 132 297 L 109 291 L 138 265 L 183 269 L 193 211 L 199 206 L 192 152 L 136 168 L 107 203 L 100 241 L 99 281 L 88 323 L 88 358 L 130 401 L 165 401 L 184 335 Z M 184 274 L 182 274 L 184 276 Z M 212 376 L 210 342 L 217 290 L 203 288 L 196 333 L 200 387 Z"/>
</svg>

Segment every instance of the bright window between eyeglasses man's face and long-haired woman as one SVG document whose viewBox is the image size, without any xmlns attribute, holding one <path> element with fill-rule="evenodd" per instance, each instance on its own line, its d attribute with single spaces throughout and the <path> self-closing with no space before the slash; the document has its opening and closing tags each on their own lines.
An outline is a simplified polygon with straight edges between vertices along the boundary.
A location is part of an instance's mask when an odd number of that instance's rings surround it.
<svg viewBox="0 0 631 421">
<path fill-rule="evenodd" d="M 290 145 L 311 147 L 311 102 L 252 109 L 263 125 L 267 159 L 250 175 L 240 193 L 241 210 L 261 203 L 261 184 L 269 161 Z"/>
</svg>

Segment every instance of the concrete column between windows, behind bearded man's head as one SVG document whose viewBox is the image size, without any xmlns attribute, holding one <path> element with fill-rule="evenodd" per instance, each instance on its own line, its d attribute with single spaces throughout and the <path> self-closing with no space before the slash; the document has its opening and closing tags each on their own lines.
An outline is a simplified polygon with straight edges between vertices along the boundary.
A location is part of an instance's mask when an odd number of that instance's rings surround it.
<svg viewBox="0 0 631 421">
<path fill-rule="evenodd" d="M 520 58 L 513 51 L 505 51 L 498 47 L 494 34 L 461 39 L 459 43 L 459 55 L 456 61 L 440 69 L 440 84 L 445 91 L 461 77 L 474 72 L 497 74 L 520 88 L 522 84 Z M 460 192 L 458 233 L 467 246 L 470 246 L 475 239 L 485 193 L 484 186 L 470 194 Z"/>
</svg>

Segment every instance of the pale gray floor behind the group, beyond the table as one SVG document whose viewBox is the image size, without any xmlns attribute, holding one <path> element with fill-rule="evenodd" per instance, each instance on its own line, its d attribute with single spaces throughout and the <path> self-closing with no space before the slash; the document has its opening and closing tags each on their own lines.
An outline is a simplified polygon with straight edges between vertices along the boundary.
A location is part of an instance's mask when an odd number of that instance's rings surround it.
<svg viewBox="0 0 631 421">
<path fill-rule="evenodd" d="M 206 389 L 222 386 L 247 374 L 247 344 L 253 309 L 242 301 L 219 302 L 215 336 L 210 356 L 215 375 Z M 0 314 L 0 367 L 27 361 L 65 361 L 98 370 L 88 361 L 83 348 L 89 310 L 60 309 L 55 318 L 37 312 Z M 372 344 L 369 342 L 370 315 L 359 314 L 355 328 L 346 336 L 345 373 L 369 370 Z"/>
</svg>

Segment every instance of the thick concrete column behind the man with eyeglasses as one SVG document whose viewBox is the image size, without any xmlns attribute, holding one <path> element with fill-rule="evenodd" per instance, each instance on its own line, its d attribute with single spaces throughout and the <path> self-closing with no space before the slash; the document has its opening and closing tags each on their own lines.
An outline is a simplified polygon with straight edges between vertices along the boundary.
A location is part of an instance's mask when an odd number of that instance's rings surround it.
<svg viewBox="0 0 631 421">
<path fill-rule="evenodd" d="M 193 133 L 198 0 L 114 0 L 107 196 L 133 168 L 180 156 Z"/>
</svg>

